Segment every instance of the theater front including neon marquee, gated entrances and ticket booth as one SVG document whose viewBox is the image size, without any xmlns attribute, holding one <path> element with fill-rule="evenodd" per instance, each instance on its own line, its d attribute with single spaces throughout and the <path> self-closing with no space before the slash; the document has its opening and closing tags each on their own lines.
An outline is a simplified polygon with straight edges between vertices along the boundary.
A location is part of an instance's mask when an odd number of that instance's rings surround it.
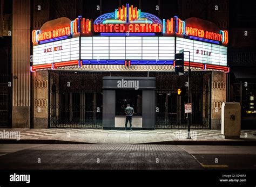
<svg viewBox="0 0 256 187">
<path fill-rule="evenodd" d="M 192 127 L 219 129 L 226 101 L 228 32 L 199 18 L 159 19 L 126 4 L 95 20 L 58 18 L 32 31 L 34 128 L 187 128 L 187 75 L 174 54 L 190 52 Z M 189 55 L 185 53 L 185 71 Z"/>
</svg>

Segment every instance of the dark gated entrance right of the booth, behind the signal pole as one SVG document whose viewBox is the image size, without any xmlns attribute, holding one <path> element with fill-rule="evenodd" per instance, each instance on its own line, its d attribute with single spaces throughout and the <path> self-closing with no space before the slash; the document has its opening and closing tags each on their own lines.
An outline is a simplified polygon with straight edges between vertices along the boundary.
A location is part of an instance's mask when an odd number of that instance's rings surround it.
<svg viewBox="0 0 256 187">
<path fill-rule="evenodd" d="M 210 128 L 211 73 L 192 74 L 191 128 Z M 185 85 L 186 76 L 174 73 L 156 74 L 156 128 L 187 128 L 186 96 L 178 96 L 177 88 Z"/>
</svg>

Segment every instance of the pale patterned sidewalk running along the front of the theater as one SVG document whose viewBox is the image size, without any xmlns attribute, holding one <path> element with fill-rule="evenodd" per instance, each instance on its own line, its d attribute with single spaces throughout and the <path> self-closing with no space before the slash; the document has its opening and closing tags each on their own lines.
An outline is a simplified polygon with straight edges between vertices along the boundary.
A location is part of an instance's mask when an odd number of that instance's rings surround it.
<svg viewBox="0 0 256 187">
<path fill-rule="evenodd" d="M 240 139 L 224 139 L 220 130 L 118 131 L 90 128 L 2 128 L 0 132 L 20 132 L 20 139 L 0 136 L 0 143 L 158 143 L 173 145 L 256 145 L 256 130 L 241 130 Z"/>
</svg>

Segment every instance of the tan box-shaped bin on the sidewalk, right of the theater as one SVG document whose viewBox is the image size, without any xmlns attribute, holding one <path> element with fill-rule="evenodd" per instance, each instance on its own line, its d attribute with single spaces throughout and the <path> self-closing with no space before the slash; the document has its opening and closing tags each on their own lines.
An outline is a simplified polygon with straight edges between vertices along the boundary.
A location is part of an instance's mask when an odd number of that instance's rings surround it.
<svg viewBox="0 0 256 187">
<path fill-rule="evenodd" d="M 221 134 L 225 139 L 239 139 L 241 132 L 240 103 L 222 103 L 221 105 Z"/>
</svg>

